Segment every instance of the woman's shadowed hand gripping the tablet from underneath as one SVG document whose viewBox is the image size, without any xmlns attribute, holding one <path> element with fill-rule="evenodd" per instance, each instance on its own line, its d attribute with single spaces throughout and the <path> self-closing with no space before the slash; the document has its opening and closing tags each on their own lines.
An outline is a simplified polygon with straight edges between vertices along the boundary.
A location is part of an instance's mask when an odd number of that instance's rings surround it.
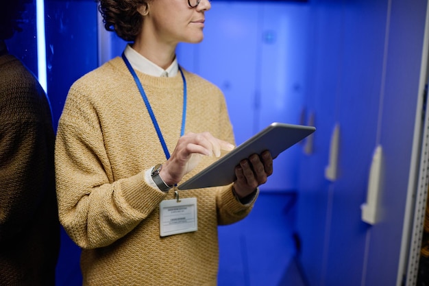
<svg viewBox="0 0 429 286">
<path fill-rule="evenodd" d="M 253 154 L 235 168 L 236 180 L 234 191 L 238 198 L 244 198 L 252 193 L 261 184 L 267 182 L 267 178 L 273 174 L 273 158 L 269 151 L 262 154 Z"/>
</svg>

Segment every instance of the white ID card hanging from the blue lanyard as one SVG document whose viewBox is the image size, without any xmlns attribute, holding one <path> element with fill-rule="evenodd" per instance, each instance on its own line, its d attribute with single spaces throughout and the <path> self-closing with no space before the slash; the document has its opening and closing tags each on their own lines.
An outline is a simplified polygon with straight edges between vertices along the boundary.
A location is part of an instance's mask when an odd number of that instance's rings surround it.
<svg viewBox="0 0 429 286">
<path fill-rule="evenodd" d="M 160 203 L 160 236 L 190 233 L 198 229 L 197 198 L 163 200 Z"/>
</svg>

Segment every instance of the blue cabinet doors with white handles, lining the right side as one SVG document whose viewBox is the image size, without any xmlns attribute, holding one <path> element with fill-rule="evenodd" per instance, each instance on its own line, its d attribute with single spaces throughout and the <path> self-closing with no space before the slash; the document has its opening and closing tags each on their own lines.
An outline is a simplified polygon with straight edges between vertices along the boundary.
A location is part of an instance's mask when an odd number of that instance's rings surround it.
<svg viewBox="0 0 429 286">
<path fill-rule="evenodd" d="M 302 156 L 297 230 L 309 285 L 400 285 L 400 250 L 424 52 L 427 1 L 311 1 L 306 108 L 314 152 Z M 325 176 L 334 126 L 338 173 Z M 376 224 L 361 219 L 382 146 Z M 310 179 L 309 179 L 310 178 Z M 405 230 L 406 231 L 406 230 Z"/>
</svg>

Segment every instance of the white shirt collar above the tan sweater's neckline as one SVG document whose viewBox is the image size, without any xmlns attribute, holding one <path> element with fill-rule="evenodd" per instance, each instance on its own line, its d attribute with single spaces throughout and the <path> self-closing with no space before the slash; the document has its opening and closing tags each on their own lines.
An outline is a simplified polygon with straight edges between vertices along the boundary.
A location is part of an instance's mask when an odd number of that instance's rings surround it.
<svg viewBox="0 0 429 286">
<path fill-rule="evenodd" d="M 152 75 L 156 77 L 173 77 L 177 75 L 179 70 L 179 65 L 177 64 L 177 58 L 174 58 L 173 62 L 170 64 L 170 67 L 167 69 L 162 69 L 158 65 L 154 64 L 144 56 L 140 55 L 135 49 L 130 45 L 125 47 L 125 56 L 130 61 L 130 64 L 133 69 L 136 69 L 147 75 Z"/>
</svg>

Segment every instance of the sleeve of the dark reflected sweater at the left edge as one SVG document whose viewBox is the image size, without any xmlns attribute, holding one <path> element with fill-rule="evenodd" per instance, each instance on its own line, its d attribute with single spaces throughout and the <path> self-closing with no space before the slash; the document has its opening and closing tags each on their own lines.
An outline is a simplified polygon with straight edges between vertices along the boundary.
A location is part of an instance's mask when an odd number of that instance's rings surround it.
<svg viewBox="0 0 429 286">
<path fill-rule="evenodd" d="M 28 227 L 48 193 L 55 193 L 49 105 L 40 90 L 23 87 L 0 104 L 0 243 Z"/>
</svg>

